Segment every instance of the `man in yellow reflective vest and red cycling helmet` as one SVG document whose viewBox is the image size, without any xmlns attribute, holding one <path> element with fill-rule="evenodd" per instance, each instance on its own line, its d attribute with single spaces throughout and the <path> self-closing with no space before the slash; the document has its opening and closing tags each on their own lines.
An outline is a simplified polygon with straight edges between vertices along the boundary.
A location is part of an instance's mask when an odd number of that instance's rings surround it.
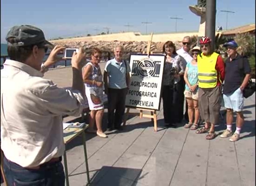
<svg viewBox="0 0 256 186">
<path fill-rule="evenodd" d="M 208 133 L 206 139 L 212 140 L 216 137 L 214 127 L 219 120 L 221 85 L 225 76 L 225 67 L 222 57 L 213 52 L 209 37 L 202 37 L 200 45 L 202 53 L 197 56 L 198 98 L 200 114 L 205 126 L 196 133 Z"/>
</svg>

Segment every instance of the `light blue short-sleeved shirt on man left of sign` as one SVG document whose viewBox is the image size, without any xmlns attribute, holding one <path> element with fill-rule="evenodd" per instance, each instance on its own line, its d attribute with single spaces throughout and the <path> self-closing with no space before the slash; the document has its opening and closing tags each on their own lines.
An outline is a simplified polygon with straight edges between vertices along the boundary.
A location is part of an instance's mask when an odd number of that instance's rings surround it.
<svg viewBox="0 0 256 186">
<path fill-rule="evenodd" d="M 126 66 L 125 66 L 126 63 Z M 105 66 L 105 71 L 108 73 L 108 87 L 122 89 L 126 88 L 126 73 L 131 72 L 130 65 L 122 60 L 121 63 L 117 60 L 109 60 Z"/>
</svg>

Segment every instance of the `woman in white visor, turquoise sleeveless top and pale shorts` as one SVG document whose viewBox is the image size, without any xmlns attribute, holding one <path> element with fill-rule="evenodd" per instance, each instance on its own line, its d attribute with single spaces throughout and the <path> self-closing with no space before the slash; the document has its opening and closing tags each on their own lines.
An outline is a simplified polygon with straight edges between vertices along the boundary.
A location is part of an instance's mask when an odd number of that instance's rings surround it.
<svg viewBox="0 0 256 186">
<path fill-rule="evenodd" d="M 198 128 L 198 121 L 200 118 L 198 108 L 198 70 L 197 70 L 197 55 L 201 53 L 199 46 L 191 49 L 193 60 L 187 64 L 184 73 L 184 80 L 186 82 L 184 96 L 188 102 L 189 123 L 184 127 L 195 130 Z M 194 121 L 194 123 L 193 123 Z"/>
</svg>

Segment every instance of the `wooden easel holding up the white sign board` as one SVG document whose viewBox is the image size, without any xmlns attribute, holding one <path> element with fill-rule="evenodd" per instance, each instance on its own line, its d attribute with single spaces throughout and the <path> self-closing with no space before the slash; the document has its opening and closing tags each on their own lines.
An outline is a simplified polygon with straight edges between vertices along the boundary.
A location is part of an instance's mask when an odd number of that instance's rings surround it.
<svg viewBox="0 0 256 186">
<path fill-rule="evenodd" d="M 152 42 L 152 38 L 153 38 L 153 32 L 151 33 L 151 38 L 150 40 L 148 41 L 148 47 L 147 47 L 147 54 L 148 54 L 148 57 L 149 57 L 149 54 L 150 54 L 150 47 L 151 47 L 151 42 Z M 126 110 L 126 113 L 125 113 L 125 116 L 124 116 L 124 121 L 123 121 L 123 126 L 126 125 L 126 121 L 128 119 L 128 115 L 129 115 L 129 111 L 131 108 L 133 107 L 129 107 L 129 106 L 126 106 L 127 110 Z M 157 116 L 156 116 L 156 110 L 152 110 L 152 109 L 145 109 L 145 108 L 133 108 L 133 109 L 136 109 L 136 110 L 140 110 L 140 113 L 132 113 L 133 115 L 139 115 L 140 118 L 144 117 L 144 118 L 151 118 L 151 121 L 154 122 L 154 131 L 157 132 Z M 149 114 L 144 114 L 143 111 L 148 111 L 150 112 L 150 115 Z M 131 113 L 130 113 L 131 114 Z"/>
</svg>

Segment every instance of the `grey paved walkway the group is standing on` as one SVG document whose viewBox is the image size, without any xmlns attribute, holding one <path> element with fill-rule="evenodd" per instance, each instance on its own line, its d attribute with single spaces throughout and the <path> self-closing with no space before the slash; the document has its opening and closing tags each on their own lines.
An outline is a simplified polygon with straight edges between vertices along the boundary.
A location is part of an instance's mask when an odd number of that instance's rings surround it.
<svg viewBox="0 0 256 186">
<path fill-rule="evenodd" d="M 61 87 L 72 83 L 70 67 L 51 70 L 45 77 Z M 157 114 L 158 132 L 150 119 L 130 116 L 125 130 L 108 133 L 107 139 L 87 133 L 91 185 L 255 186 L 255 95 L 245 100 L 245 124 L 237 142 L 219 136 L 205 140 L 205 134 L 183 126 L 166 129 L 162 107 Z M 218 134 L 225 129 L 224 123 L 216 126 Z M 67 146 L 67 161 L 70 186 L 85 186 L 81 137 Z"/>
</svg>

